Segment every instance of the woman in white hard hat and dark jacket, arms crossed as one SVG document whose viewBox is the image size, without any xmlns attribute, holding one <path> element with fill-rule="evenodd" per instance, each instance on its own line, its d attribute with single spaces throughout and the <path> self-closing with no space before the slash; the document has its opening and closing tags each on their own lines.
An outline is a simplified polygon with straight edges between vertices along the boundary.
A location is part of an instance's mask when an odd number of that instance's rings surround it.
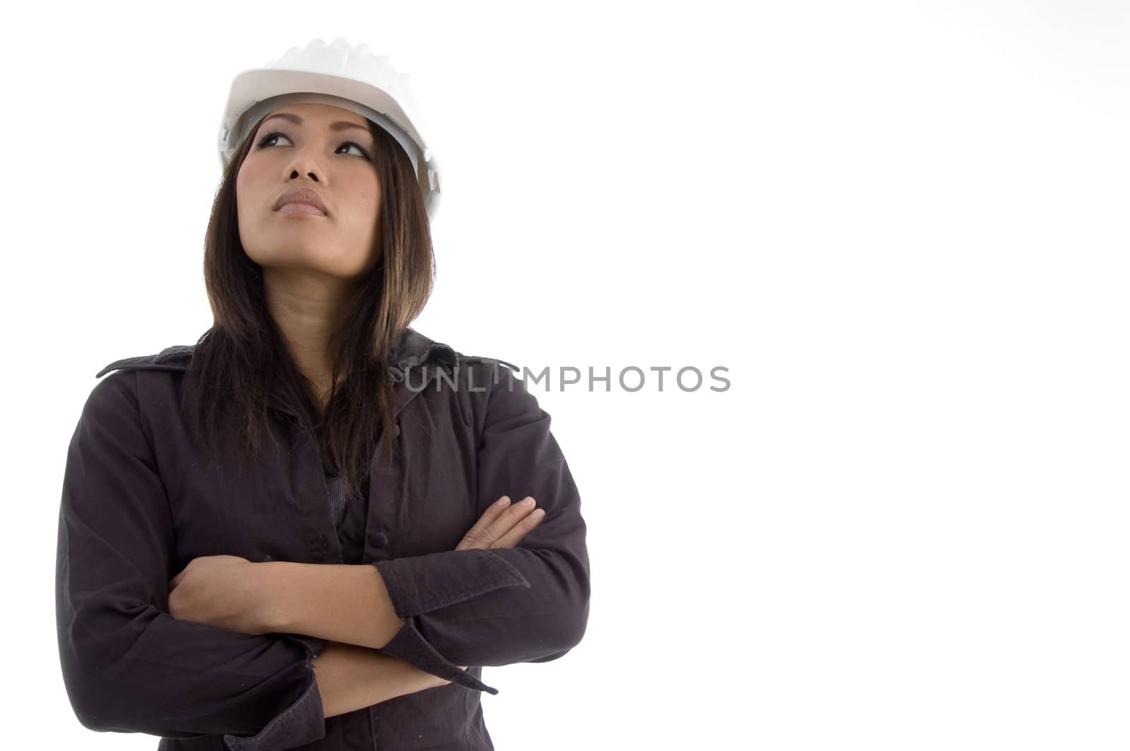
<svg viewBox="0 0 1130 751">
<path fill-rule="evenodd" d="M 214 324 L 103 368 L 69 447 L 56 622 L 86 727 L 492 749 L 481 666 L 581 640 L 585 524 L 549 416 L 513 366 L 408 325 L 438 193 L 410 111 L 342 40 L 236 78 Z"/>
</svg>

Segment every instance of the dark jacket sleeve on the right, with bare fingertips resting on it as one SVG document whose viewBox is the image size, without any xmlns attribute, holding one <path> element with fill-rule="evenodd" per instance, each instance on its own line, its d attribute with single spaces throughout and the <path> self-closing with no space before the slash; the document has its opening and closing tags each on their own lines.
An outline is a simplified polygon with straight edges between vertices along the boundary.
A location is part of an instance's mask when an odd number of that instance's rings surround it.
<svg viewBox="0 0 1130 751">
<path fill-rule="evenodd" d="M 533 496 L 545 518 L 515 548 L 373 561 L 405 626 L 381 652 L 470 689 L 497 693 L 459 665 L 549 662 L 584 636 L 589 554 L 581 498 L 550 417 L 525 382 L 488 366 L 478 446 L 478 514 Z M 486 384 L 483 381 L 486 381 Z M 462 386 L 461 386 L 462 387 Z"/>
</svg>

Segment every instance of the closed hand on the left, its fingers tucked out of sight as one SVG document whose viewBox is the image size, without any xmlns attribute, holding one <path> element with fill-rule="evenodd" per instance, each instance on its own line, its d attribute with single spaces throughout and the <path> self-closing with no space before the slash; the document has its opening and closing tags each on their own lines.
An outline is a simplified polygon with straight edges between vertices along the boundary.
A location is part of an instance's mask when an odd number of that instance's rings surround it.
<svg viewBox="0 0 1130 751">
<path fill-rule="evenodd" d="M 238 556 L 193 558 L 168 583 L 168 614 L 229 631 L 269 634 L 259 618 L 261 566 Z"/>
</svg>

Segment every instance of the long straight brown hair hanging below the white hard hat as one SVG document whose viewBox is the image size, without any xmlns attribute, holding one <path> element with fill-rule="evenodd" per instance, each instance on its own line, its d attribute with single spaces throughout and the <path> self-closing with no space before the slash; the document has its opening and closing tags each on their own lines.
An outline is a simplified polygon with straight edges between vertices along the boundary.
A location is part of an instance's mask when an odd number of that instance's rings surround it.
<svg viewBox="0 0 1130 751">
<path fill-rule="evenodd" d="M 238 423 L 241 466 L 259 452 L 264 434 L 278 447 L 272 409 L 295 416 L 314 436 L 323 470 L 341 474 L 351 495 L 362 492 L 374 455 L 384 462 L 399 456 L 389 366 L 393 347 L 424 309 L 435 276 L 432 233 L 411 161 L 392 136 L 366 122 L 382 189 L 379 261 L 360 280 L 331 338 L 334 385 L 324 412 L 267 308 L 262 267 L 240 242 L 235 178 L 258 123 L 225 171 L 212 202 L 205 286 L 214 321 L 193 349 L 182 396 L 182 409 L 205 445 L 218 445 L 220 423 Z"/>
</svg>

